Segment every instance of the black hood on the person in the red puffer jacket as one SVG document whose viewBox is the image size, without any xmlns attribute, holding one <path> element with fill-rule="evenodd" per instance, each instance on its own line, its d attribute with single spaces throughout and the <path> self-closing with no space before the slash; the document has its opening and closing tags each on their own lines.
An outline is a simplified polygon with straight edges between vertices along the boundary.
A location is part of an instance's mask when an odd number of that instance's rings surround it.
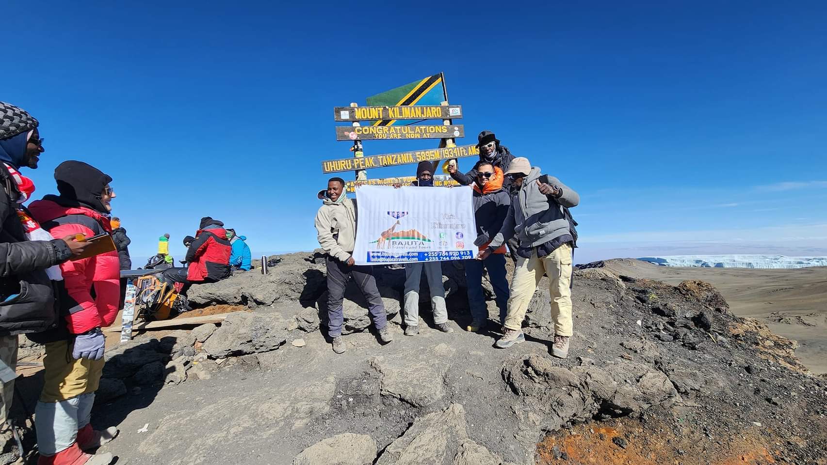
<svg viewBox="0 0 827 465">
<path fill-rule="evenodd" d="M 101 202 L 103 187 L 112 183 L 112 178 L 91 164 L 82 161 L 65 161 L 55 168 L 55 181 L 60 197 L 77 201 L 95 211 L 108 214 Z"/>
</svg>

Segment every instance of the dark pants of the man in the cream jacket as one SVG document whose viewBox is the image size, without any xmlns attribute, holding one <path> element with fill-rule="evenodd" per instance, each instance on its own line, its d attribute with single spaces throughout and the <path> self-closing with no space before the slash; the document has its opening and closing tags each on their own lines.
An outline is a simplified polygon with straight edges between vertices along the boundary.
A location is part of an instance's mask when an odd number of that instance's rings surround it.
<svg viewBox="0 0 827 465">
<path fill-rule="evenodd" d="M 362 295 L 367 301 L 370 319 L 377 330 L 381 330 L 388 324 L 385 314 L 385 303 L 376 287 L 376 278 L 373 276 L 372 267 L 347 266 L 337 259 L 327 257 L 327 334 L 335 338 L 342 335 L 344 314 L 342 313 L 342 300 L 345 298 L 345 287 L 347 280 L 353 277 L 356 286 L 359 287 Z"/>
</svg>

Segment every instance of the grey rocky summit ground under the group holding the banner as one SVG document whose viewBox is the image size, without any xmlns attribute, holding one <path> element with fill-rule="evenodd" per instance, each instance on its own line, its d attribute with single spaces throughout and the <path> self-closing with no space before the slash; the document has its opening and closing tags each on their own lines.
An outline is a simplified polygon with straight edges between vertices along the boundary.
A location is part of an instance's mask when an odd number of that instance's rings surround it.
<svg viewBox="0 0 827 465">
<path fill-rule="evenodd" d="M 108 350 L 93 419 L 122 434 L 102 451 L 174 465 L 825 463 L 825 378 L 706 282 L 576 270 L 561 360 L 549 353 L 546 278 L 526 342 L 495 349 L 493 322 L 464 330 L 461 262 L 442 263 L 456 332 L 434 329 L 423 299 L 414 337 L 400 326 L 404 270 L 378 268 L 394 341 L 380 344 L 351 282 L 337 355 L 323 257 L 270 261 L 269 274 L 192 288 L 196 306 L 243 309 L 221 324 Z"/>
</svg>

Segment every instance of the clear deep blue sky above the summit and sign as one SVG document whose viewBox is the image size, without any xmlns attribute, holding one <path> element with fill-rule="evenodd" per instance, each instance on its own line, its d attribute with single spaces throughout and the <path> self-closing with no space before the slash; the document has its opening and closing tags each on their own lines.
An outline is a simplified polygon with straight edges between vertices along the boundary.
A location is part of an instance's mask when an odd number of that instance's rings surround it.
<svg viewBox="0 0 827 465">
<path fill-rule="evenodd" d="M 36 198 L 103 169 L 138 261 L 205 215 L 313 249 L 319 162 L 351 154 L 332 107 L 440 71 L 459 142 L 494 130 L 581 193 L 578 262 L 827 254 L 824 2 L 120 3 L 4 2 L 0 99 L 41 121 Z"/>
</svg>

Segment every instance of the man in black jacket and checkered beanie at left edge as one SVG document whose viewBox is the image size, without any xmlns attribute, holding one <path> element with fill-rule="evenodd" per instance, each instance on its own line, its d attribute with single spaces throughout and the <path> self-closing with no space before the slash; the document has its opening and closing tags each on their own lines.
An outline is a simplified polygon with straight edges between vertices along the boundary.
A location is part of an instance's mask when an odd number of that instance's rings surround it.
<svg viewBox="0 0 827 465">
<path fill-rule="evenodd" d="M 55 240 L 22 206 L 35 187 L 18 169 L 37 168 L 45 151 L 37 126 L 21 108 L 0 102 L 0 454 L 16 444 L 7 415 L 17 377 L 17 335 L 56 327 L 54 281 L 63 279 L 57 265 L 87 244 Z"/>
</svg>

